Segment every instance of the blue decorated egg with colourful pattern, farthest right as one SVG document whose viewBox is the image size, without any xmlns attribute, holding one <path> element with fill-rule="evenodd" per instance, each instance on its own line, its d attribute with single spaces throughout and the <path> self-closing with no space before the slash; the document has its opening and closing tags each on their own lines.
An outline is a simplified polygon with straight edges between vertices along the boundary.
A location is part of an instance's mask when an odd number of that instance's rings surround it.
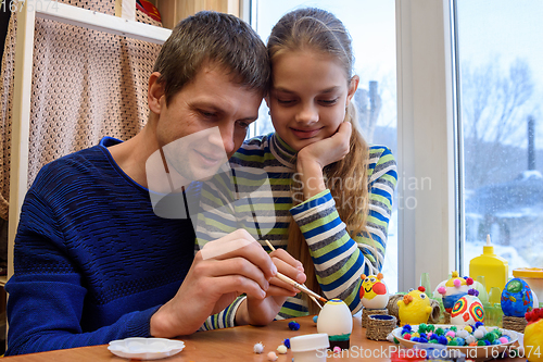
<svg viewBox="0 0 543 362">
<path fill-rule="evenodd" d="M 532 290 L 525 280 L 510 279 L 502 291 L 501 303 L 505 315 L 523 317 L 533 309 Z"/>
</svg>

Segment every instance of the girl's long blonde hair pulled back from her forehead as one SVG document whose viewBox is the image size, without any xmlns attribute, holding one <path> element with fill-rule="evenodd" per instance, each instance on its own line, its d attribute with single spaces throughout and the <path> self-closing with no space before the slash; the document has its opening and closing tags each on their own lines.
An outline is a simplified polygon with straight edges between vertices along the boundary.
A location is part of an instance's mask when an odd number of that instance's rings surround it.
<svg viewBox="0 0 543 362">
<path fill-rule="evenodd" d="M 351 82 L 354 64 L 351 37 L 341 21 L 325 10 L 306 8 L 283 15 L 272 29 L 267 48 L 272 61 L 272 74 L 274 60 L 281 53 L 314 51 L 339 61 L 345 72 L 346 82 Z M 352 102 L 346 108 L 344 122 L 353 125 L 350 151 L 343 160 L 324 168 L 325 182 L 351 237 L 359 233 L 369 235 L 366 226 L 369 208 L 367 180 L 369 150 L 358 132 L 356 109 Z M 345 187 L 348 182 L 349 187 Z M 289 227 L 287 250 L 303 263 L 307 275 L 306 286 L 321 294 L 307 244 L 293 220 Z M 303 298 L 305 299 L 305 295 Z M 315 304 L 308 303 L 308 307 L 311 314 L 318 312 Z"/>
</svg>

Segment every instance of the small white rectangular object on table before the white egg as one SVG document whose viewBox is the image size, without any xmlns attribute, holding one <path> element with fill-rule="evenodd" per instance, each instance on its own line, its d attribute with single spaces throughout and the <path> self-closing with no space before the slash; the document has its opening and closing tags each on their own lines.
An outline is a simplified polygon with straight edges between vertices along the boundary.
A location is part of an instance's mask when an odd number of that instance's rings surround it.
<svg viewBox="0 0 543 362">
<path fill-rule="evenodd" d="M 325 362 L 330 342 L 326 333 L 290 338 L 290 350 L 294 362 Z"/>
</svg>

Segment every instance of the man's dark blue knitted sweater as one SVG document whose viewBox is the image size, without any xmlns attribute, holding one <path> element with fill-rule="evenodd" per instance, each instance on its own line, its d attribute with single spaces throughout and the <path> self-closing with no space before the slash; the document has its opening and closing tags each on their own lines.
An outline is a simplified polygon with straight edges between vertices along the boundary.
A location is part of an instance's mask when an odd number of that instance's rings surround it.
<svg viewBox="0 0 543 362">
<path fill-rule="evenodd" d="M 5 286 L 8 355 L 148 337 L 190 269 L 190 220 L 155 215 L 105 148 L 115 142 L 46 165 L 28 190 Z"/>
</svg>

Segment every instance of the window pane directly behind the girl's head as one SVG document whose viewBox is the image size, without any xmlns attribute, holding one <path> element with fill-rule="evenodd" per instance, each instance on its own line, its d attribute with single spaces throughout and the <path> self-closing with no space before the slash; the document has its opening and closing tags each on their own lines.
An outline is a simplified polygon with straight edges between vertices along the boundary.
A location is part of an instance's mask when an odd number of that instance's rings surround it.
<svg viewBox="0 0 543 362">
<path fill-rule="evenodd" d="M 355 73 L 361 77 L 355 102 L 366 140 L 384 145 L 397 159 L 396 142 L 396 55 L 395 8 L 393 0 L 351 0 L 341 2 L 253 0 L 253 26 L 264 41 L 272 27 L 288 11 L 316 7 L 338 16 L 349 29 L 356 58 Z M 265 103 L 252 135 L 273 132 Z M 383 274 L 391 292 L 397 291 L 397 198 L 389 224 Z"/>
</svg>

